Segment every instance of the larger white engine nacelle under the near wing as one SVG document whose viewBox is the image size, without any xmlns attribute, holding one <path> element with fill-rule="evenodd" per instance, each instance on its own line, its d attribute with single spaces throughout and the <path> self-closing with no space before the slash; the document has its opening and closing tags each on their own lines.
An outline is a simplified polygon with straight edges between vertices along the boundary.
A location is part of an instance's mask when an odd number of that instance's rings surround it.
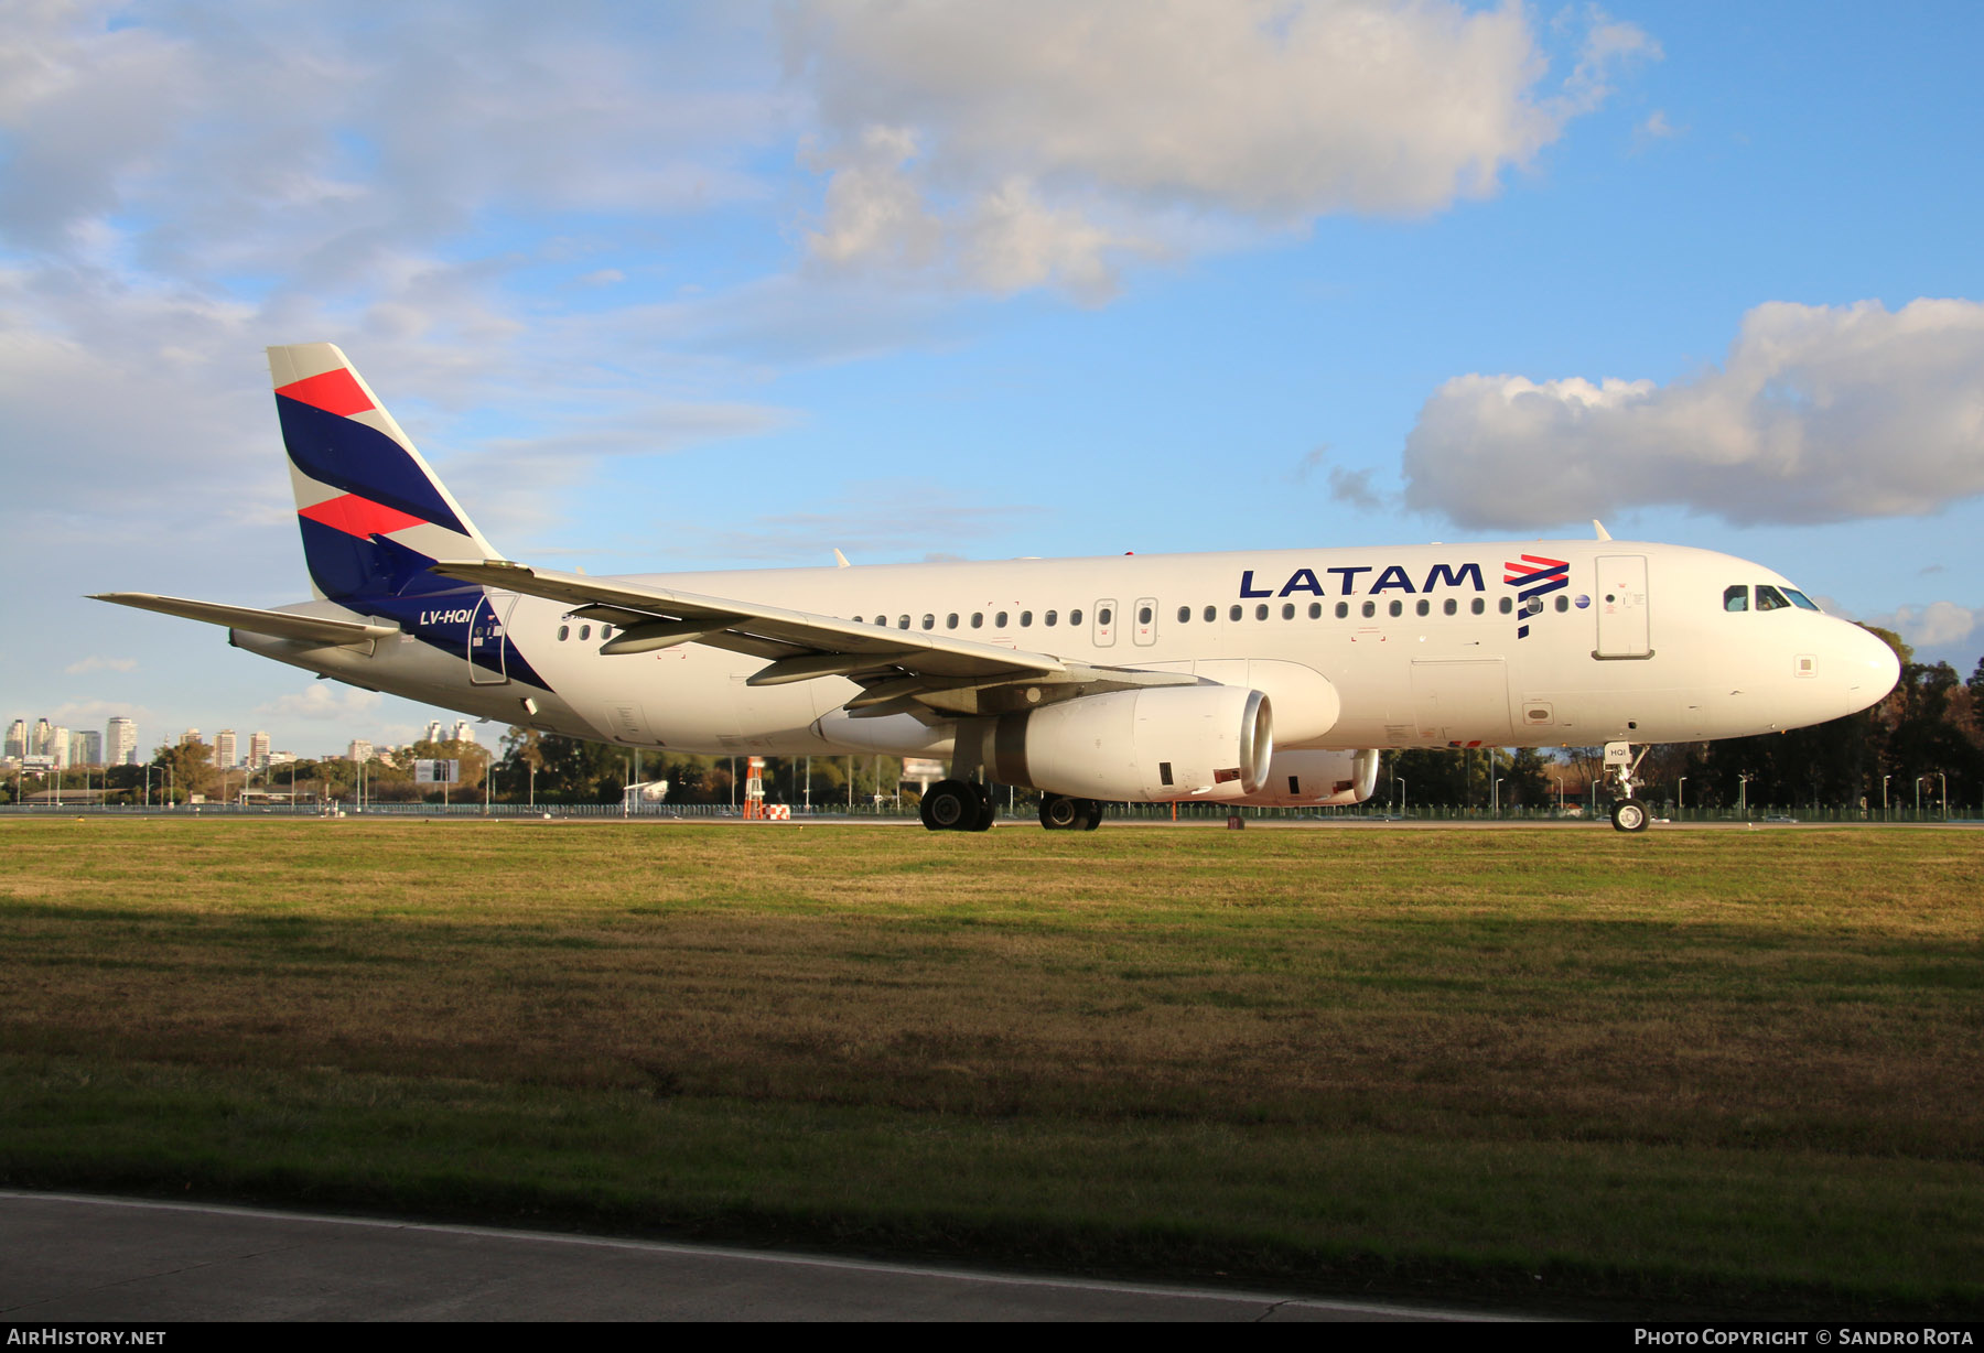
<svg viewBox="0 0 1984 1353">
<path fill-rule="evenodd" d="M 1274 710 L 1260 690 L 1153 686 L 1061 700 L 984 720 L 996 784 L 1081 800 L 1232 801 L 1262 788 Z"/>
</svg>

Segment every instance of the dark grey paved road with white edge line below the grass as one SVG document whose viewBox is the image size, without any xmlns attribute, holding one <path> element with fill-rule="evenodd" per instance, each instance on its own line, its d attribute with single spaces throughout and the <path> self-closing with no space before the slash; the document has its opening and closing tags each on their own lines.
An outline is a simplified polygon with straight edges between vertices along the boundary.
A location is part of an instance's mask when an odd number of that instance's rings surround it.
<svg viewBox="0 0 1984 1353">
<path fill-rule="evenodd" d="M 1468 1315 L 802 1254 L 0 1190 L 0 1321 Z"/>
</svg>

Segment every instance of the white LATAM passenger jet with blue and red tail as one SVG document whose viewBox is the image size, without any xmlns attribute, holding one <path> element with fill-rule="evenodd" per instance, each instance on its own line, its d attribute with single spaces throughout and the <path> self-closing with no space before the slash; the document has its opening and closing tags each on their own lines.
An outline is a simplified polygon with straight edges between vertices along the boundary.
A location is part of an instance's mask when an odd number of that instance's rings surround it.
<svg viewBox="0 0 1984 1353">
<path fill-rule="evenodd" d="M 1361 803 L 1381 748 L 1776 732 L 1885 696 L 1895 653 L 1772 569 L 1587 542 L 585 577 L 504 559 L 329 343 L 268 349 L 313 601 L 107 593 L 323 676 L 571 738 L 950 758 L 1050 829 L 1103 801 Z"/>
</svg>

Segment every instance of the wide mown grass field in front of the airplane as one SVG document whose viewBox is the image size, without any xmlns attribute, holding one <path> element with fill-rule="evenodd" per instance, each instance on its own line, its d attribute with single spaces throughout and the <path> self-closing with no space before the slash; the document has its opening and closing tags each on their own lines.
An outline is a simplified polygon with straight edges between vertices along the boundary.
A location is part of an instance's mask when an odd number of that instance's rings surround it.
<svg viewBox="0 0 1984 1353">
<path fill-rule="evenodd" d="M 0 823 L 0 1180 L 1984 1313 L 1984 835 Z"/>
</svg>

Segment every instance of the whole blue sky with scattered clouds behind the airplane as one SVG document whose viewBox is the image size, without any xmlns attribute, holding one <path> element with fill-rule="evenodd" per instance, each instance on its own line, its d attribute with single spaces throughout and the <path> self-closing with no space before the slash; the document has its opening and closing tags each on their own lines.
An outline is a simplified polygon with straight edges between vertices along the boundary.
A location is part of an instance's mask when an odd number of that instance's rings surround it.
<svg viewBox="0 0 1984 1353">
<path fill-rule="evenodd" d="M 0 718 L 438 714 L 79 599 L 306 593 L 317 339 L 552 567 L 1597 516 L 1984 653 L 1974 6 L 315 10 L 0 8 Z"/>
</svg>

